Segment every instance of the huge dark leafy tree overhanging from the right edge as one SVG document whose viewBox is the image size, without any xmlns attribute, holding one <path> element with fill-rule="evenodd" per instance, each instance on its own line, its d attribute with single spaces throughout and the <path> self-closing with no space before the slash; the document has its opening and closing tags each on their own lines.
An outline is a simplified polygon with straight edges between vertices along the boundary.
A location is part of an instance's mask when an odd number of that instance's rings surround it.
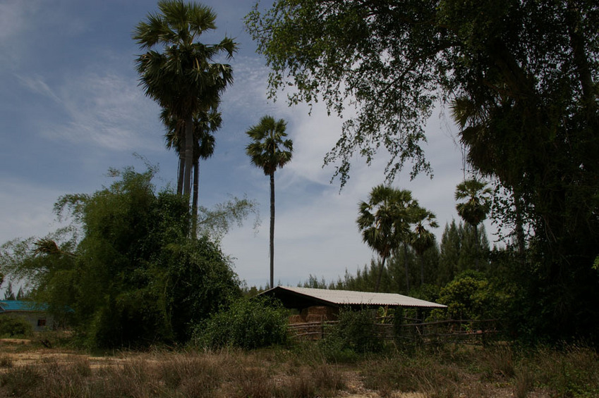
<svg viewBox="0 0 599 398">
<path fill-rule="evenodd" d="M 555 336 L 599 331 L 596 1 L 277 0 L 246 23 L 271 94 L 356 106 L 325 156 L 341 185 L 355 154 L 387 151 L 389 179 L 406 162 L 428 173 L 425 121 L 449 104 L 468 162 L 508 194 L 495 219 L 515 224 L 521 251 L 531 226 L 520 276 L 537 304 L 523 320 Z"/>
</svg>

